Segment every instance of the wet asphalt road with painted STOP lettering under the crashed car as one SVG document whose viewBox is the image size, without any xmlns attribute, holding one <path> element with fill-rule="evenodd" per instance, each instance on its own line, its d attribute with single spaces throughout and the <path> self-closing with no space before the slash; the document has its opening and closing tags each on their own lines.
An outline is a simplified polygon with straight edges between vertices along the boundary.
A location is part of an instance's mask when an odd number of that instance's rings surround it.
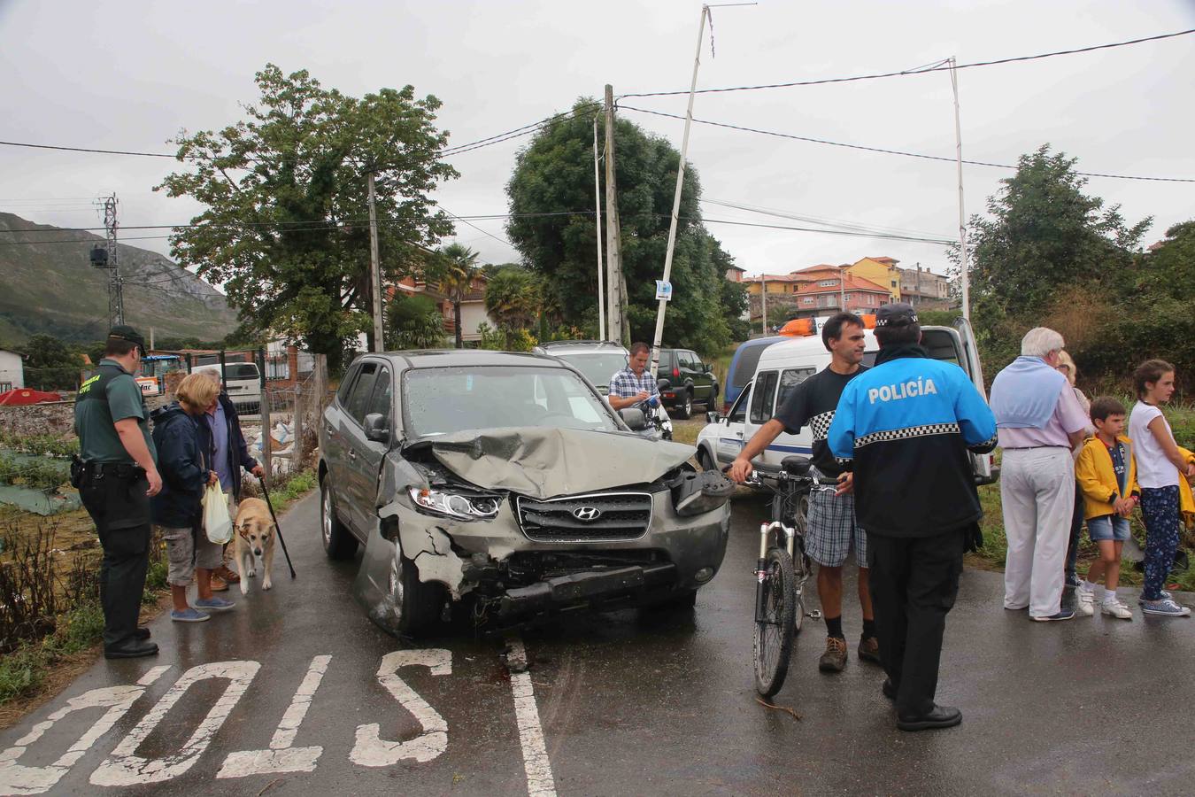
<svg viewBox="0 0 1195 797">
<path fill-rule="evenodd" d="M 799 719 L 759 705 L 761 513 L 736 501 L 727 560 L 692 613 L 411 646 L 353 601 L 356 563 L 324 558 L 308 497 L 282 519 L 298 580 L 278 556 L 274 590 L 229 593 L 233 612 L 159 618 L 157 658 L 99 661 L 0 734 L 0 793 L 1191 792 L 1195 621 L 1030 623 L 1000 607 L 998 574 L 967 571 L 948 620 L 938 697 L 962 727 L 894 728 L 881 670 L 854 658 L 850 602 L 847 670 L 817 673 L 823 630 L 807 621 L 777 697 Z M 505 644 L 514 658 L 525 646 L 528 673 L 511 675 Z"/>
</svg>

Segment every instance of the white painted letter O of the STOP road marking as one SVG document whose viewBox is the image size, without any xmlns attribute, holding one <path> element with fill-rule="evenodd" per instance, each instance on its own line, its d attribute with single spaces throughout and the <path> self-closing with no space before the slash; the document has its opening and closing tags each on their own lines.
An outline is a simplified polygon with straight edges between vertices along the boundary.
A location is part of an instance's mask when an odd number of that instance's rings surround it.
<svg viewBox="0 0 1195 797">
<path fill-rule="evenodd" d="M 141 718 L 136 728 L 121 740 L 111 755 L 91 773 L 91 783 L 97 786 L 136 786 L 170 780 L 190 770 L 212 743 L 212 737 L 223 725 L 261 667 L 258 662 L 252 661 L 214 662 L 198 664 L 183 673 L 161 700 Z M 143 759 L 136 755 L 136 749 L 153 732 L 158 723 L 166 718 L 186 689 L 192 683 L 212 678 L 228 679 L 228 686 L 182 749 L 160 759 Z"/>
</svg>

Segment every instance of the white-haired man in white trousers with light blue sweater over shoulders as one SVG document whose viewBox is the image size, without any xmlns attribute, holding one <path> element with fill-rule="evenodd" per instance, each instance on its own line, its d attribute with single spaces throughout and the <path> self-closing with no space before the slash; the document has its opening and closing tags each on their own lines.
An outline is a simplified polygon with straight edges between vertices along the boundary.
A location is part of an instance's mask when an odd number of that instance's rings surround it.
<svg viewBox="0 0 1195 797">
<path fill-rule="evenodd" d="M 1074 509 L 1071 448 L 1090 422 L 1066 376 L 1059 352 L 1065 342 L 1038 326 L 1021 341 L 1021 356 L 992 382 L 992 412 L 1004 449 L 1000 502 L 1009 553 L 1004 563 L 1004 608 L 1029 607 L 1034 620 L 1070 620 L 1064 611 L 1062 564 Z"/>
</svg>

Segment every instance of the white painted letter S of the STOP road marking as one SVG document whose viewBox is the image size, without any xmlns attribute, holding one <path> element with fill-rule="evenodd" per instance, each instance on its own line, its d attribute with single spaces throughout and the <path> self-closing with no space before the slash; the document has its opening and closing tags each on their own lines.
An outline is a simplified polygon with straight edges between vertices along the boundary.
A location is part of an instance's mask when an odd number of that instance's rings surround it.
<svg viewBox="0 0 1195 797">
<path fill-rule="evenodd" d="M 378 681 L 410 711 L 423 728 L 415 738 L 391 742 L 381 738 L 381 725 L 357 725 L 356 742 L 349 759 L 367 767 L 388 767 L 403 760 L 430 761 L 448 749 L 448 723 L 428 701 L 398 675 L 403 667 L 422 666 L 433 675 L 452 675 L 452 651 L 440 649 L 396 650 L 386 654 L 378 668 Z"/>
</svg>

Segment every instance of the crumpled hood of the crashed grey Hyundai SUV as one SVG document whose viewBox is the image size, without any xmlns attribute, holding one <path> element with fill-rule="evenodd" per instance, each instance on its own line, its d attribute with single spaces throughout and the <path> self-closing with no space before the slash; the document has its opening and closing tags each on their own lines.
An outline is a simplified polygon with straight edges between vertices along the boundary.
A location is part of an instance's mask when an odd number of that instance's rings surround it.
<svg viewBox="0 0 1195 797">
<path fill-rule="evenodd" d="M 458 433 L 430 446 L 466 482 L 533 498 L 655 482 L 693 455 L 692 446 L 633 434 L 539 427 Z"/>
</svg>

